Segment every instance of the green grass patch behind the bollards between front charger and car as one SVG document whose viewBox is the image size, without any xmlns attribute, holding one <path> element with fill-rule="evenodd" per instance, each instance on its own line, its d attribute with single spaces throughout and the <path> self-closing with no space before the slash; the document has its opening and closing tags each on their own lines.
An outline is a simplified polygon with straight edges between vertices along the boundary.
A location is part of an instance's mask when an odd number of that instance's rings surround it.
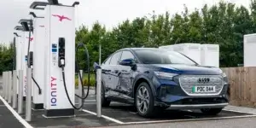
<svg viewBox="0 0 256 128">
<path fill-rule="evenodd" d="M 88 86 L 88 73 L 83 74 L 83 84 L 84 86 Z M 90 86 L 95 86 L 96 84 L 96 78 L 94 73 L 90 73 Z M 79 86 L 79 74 L 76 74 L 75 76 L 75 85 Z"/>
</svg>

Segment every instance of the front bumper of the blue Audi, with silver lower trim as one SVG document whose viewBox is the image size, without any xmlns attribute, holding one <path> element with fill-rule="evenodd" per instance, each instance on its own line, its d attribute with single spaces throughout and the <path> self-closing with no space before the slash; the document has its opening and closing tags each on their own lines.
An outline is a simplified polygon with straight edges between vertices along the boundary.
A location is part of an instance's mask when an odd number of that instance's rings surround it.
<svg viewBox="0 0 256 128">
<path fill-rule="evenodd" d="M 194 108 L 224 108 L 230 102 L 227 95 L 229 84 L 224 84 L 223 89 L 215 96 L 189 96 L 175 81 L 156 80 L 155 106 L 165 106 L 170 109 Z"/>
</svg>

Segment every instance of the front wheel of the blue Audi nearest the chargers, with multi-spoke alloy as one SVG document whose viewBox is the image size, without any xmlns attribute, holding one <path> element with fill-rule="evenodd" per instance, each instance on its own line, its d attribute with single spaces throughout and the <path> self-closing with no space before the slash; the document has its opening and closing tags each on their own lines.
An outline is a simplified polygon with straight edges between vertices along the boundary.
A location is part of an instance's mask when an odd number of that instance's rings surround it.
<svg viewBox="0 0 256 128">
<path fill-rule="evenodd" d="M 145 118 L 152 117 L 154 113 L 156 113 L 152 90 L 145 82 L 139 84 L 137 87 L 135 94 L 135 106 L 137 108 L 137 113 Z"/>
</svg>

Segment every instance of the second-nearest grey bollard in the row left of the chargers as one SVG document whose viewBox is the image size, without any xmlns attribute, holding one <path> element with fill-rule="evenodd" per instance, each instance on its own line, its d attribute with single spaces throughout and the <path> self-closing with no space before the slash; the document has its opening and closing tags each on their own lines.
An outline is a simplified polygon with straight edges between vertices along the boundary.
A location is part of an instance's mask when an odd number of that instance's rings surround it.
<svg viewBox="0 0 256 128">
<path fill-rule="evenodd" d="M 19 71 L 18 113 L 23 113 L 23 71 Z"/>
</svg>

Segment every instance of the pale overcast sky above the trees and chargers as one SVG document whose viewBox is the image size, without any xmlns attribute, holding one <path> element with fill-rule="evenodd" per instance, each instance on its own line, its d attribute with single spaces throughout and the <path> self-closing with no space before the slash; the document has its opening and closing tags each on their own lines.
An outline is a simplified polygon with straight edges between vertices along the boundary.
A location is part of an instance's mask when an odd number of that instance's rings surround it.
<svg viewBox="0 0 256 128">
<path fill-rule="evenodd" d="M 31 18 L 33 11 L 38 16 L 44 16 L 43 10 L 32 10 L 29 6 L 35 0 L 0 0 L 0 44 L 9 44 L 14 38 L 14 27 L 19 25 L 20 19 Z M 38 1 L 38 0 L 36 0 Z M 47 0 L 39 0 L 46 2 Z M 74 1 L 80 4 L 76 8 L 76 26 L 84 24 L 90 26 L 99 21 L 108 30 L 117 26 L 126 19 L 147 16 L 155 11 L 155 14 L 164 14 L 168 11 L 171 15 L 183 11 L 186 4 L 189 11 L 195 8 L 201 9 L 204 4 L 212 5 L 220 0 L 59 0 L 59 3 L 72 5 Z M 236 5 L 249 8 L 250 0 L 224 0 Z"/>
</svg>

